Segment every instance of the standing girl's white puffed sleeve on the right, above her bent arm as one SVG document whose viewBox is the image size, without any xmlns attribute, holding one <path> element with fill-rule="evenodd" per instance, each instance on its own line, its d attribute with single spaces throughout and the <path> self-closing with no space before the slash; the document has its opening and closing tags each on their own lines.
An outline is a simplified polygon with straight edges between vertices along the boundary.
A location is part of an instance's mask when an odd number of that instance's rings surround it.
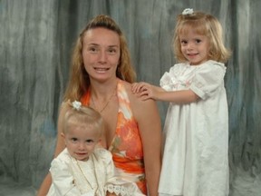
<svg viewBox="0 0 261 196">
<path fill-rule="evenodd" d="M 224 64 L 209 61 L 208 64 L 202 65 L 201 69 L 198 69 L 198 72 L 195 73 L 190 89 L 205 100 L 215 94 L 221 85 L 224 85 L 225 73 L 226 67 Z"/>
</svg>

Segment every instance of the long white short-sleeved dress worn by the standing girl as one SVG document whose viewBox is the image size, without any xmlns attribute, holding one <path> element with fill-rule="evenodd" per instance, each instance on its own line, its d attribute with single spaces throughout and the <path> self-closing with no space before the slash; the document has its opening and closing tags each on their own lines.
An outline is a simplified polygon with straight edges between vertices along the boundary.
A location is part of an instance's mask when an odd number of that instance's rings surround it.
<svg viewBox="0 0 261 196">
<path fill-rule="evenodd" d="M 160 195 L 228 195 L 226 67 L 215 61 L 175 64 L 164 73 L 166 91 L 190 89 L 197 103 L 169 103 L 164 127 Z"/>
</svg>

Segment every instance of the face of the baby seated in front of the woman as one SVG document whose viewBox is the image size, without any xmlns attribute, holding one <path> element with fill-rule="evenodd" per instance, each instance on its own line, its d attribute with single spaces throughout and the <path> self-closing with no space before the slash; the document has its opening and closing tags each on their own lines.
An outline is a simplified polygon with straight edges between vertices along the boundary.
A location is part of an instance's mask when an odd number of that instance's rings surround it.
<svg viewBox="0 0 261 196">
<path fill-rule="evenodd" d="M 72 123 L 66 133 L 62 133 L 68 152 L 80 161 L 88 160 L 95 145 L 101 141 L 99 134 L 92 127 Z"/>
</svg>

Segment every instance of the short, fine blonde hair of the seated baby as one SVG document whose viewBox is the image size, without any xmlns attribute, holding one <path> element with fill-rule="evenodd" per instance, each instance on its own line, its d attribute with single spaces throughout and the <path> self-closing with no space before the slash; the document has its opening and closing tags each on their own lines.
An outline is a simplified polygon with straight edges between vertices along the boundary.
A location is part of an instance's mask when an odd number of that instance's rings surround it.
<svg viewBox="0 0 261 196">
<path fill-rule="evenodd" d="M 63 133 L 68 132 L 69 124 L 75 123 L 97 132 L 99 137 L 102 137 L 104 122 L 100 113 L 87 106 L 81 106 L 79 109 L 73 108 L 72 103 L 69 103 L 68 107 L 69 109 L 64 115 Z"/>
</svg>

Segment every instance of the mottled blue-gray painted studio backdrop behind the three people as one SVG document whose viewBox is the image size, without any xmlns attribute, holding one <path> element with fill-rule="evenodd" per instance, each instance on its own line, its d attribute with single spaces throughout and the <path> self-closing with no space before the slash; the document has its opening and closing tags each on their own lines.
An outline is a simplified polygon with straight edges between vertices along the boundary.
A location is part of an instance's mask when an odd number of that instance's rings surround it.
<svg viewBox="0 0 261 196">
<path fill-rule="evenodd" d="M 260 0 L 0 0 L 0 195 L 34 195 L 53 158 L 73 42 L 95 15 L 121 25 L 139 81 L 175 64 L 176 16 L 215 15 L 227 63 L 230 196 L 261 195 Z M 159 103 L 164 123 L 166 103 Z"/>
</svg>

